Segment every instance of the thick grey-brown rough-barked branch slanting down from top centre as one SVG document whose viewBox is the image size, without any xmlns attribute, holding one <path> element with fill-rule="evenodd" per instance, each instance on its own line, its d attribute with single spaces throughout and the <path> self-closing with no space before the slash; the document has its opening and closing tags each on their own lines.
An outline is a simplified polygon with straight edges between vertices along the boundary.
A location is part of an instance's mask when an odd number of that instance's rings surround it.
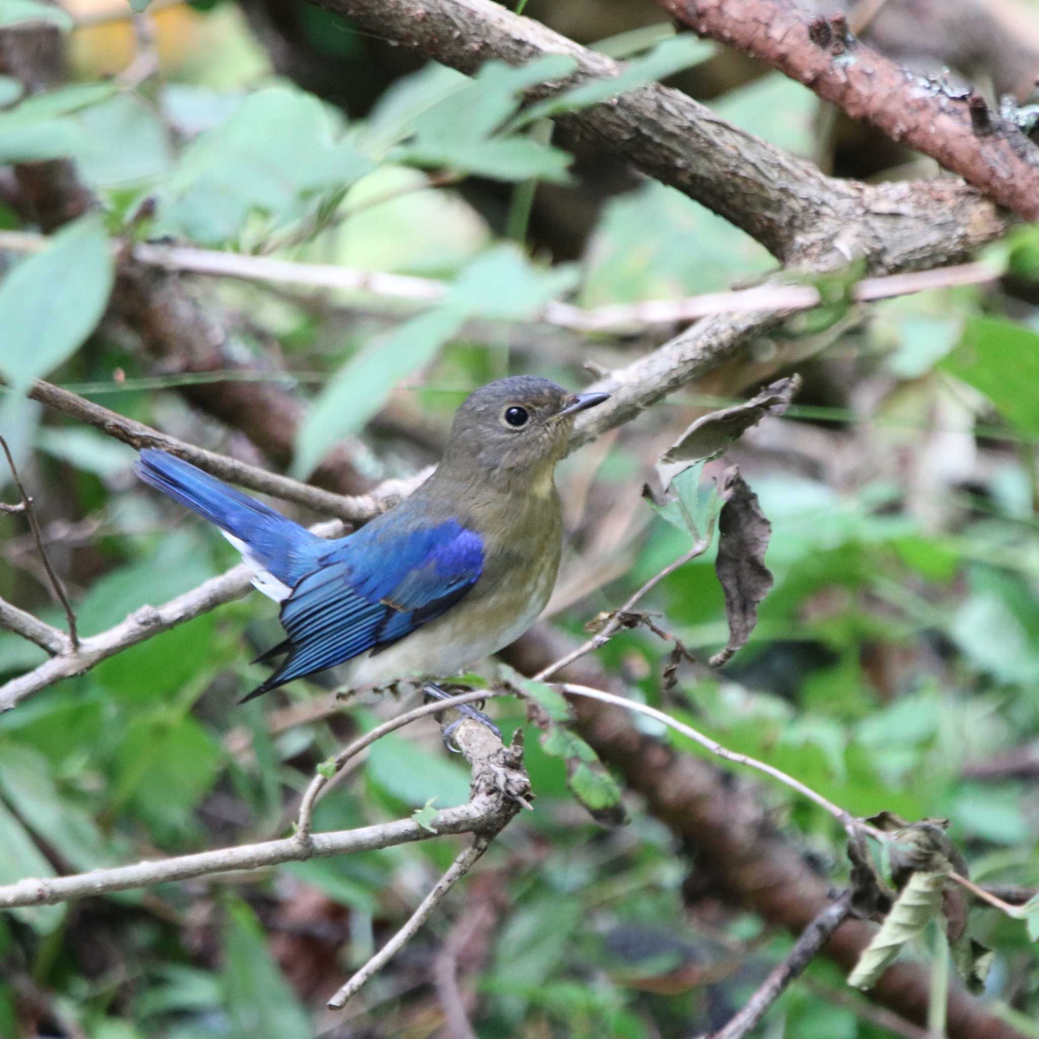
<svg viewBox="0 0 1039 1039">
<path fill-rule="evenodd" d="M 616 76 L 612 59 L 491 0 L 312 0 L 363 28 L 463 73 L 498 59 L 567 54 L 578 72 L 533 87 L 542 98 Z M 955 262 L 997 237 L 1004 218 L 961 184 L 868 187 L 815 166 L 720 119 L 678 90 L 649 84 L 559 122 L 724 216 L 784 262 L 838 266 L 862 256 L 874 272 Z"/>
</svg>

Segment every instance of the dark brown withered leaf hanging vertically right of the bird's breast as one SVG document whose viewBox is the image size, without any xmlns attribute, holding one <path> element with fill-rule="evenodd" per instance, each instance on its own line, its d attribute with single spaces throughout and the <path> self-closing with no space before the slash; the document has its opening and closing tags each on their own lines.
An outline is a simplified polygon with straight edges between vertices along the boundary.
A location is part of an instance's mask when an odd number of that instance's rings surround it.
<svg viewBox="0 0 1039 1039">
<path fill-rule="evenodd" d="M 757 504 L 757 496 L 740 475 L 738 465 L 727 469 L 720 488 L 724 505 L 718 517 L 718 558 L 715 570 L 725 593 L 728 643 L 711 658 L 712 667 L 727 663 L 746 645 L 757 623 L 757 605 L 772 587 L 765 565 L 772 524 Z"/>
</svg>

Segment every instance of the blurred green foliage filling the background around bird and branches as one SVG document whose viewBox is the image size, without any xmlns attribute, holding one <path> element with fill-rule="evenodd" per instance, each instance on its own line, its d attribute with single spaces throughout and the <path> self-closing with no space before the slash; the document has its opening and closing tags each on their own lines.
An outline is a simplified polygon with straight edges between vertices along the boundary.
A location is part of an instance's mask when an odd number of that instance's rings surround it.
<svg viewBox="0 0 1039 1039">
<path fill-rule="evenodd" d="M 0 24 L 41 9 L 70 24 L 31 0 L 0 0 Z M 421 311 L 359 291 L 207 286 L 240 318 L 233 355 L 269 371 L 276 354 L 313 400 L 297 474 L 389 404 L 396 424 L 369 426 L 363 457 L 373 478 L 394 476 L 435 458 L 473 387 L 510 371 L 577 385 L 585 359 L 619 365 L 642 345 L 526 337 L 545 302 L 671 298 L 770 265 L 742 233 L 654 182 L 604 202 L 575 265 L 552 264 L 526 235 L 499 241 L 470 196 L 430 187 L 429 171 L 455 185 L 479 175 L 505 185 L 508 205 L 530 182 L 570 179 L 566 151 L 528 126 L 549 109 L 517 111 L 522 86 L 562 75 L 566 58 L 491 64 L 473 80 L 429 66 L 396 82 L 364 122 L 348 122 L 272 75 L 233 4 L 163 10 L 156 25 L 162 73 L 137 89 L 104 79 L 132 59 L 126 24 L 73 34 L 79 82 L 23 98 L 0 79 L 0 164 L 71 157 L 104 204 L 104 224 L 89 216 L 45 251 L 3 254 L 0 370 L 16 388 L 48 374 L 175 435 L 243 450 L 176 393 L 186 377 L 155 367 L 122 329 L 91 336 L 112 278 L 108 245 L 119 236 L 436 276 L 447 292 Z M 339 29 L 348 54 L 355 36 Z M 627 85 L 710 53 L 683 37 L 659 44 L 665 35 L 639 37 L 655 49 Z M 600 86 L 575 95 L 551 110 L 604 96 Z M 713 104 L 793 152 L 820 144 L 816 99 L 780 76 Z M 142 209 L 145 199 L 154 205 Z M 19 227 L 0 202 L 0 228 Z M 731 457 L 696 468 L 697 479 L 712 479 L 739 461 L 773 526 L 774 590 L 722 673 L 682 670 L 664 694 L 669 646 L 645 629 L 621 632 L 597 655 L 631 695 L 853 814 L 949 818 L 976 880 L 1024 886 L 1039 885 L 1037 257 L 1039 230 L 1023 229 L 993 250 L 1008 271 L 998 284 L 876 304 L 798 366 L 805 391 L 783 418 L 766 420 Z M 796 346 L 796 329 L 788 335 Z M 758 344 L 763 359 L 776 349 Z M 704 406 L 731 403 L 678 394 L 605 457 L 588 450 L 561 468 L 574 529 L 563 583 L 594 576 L 613 555 L 631 564 L 605 586 L 588 579 L 591 591 L 554 623 L 583 636 L 589 617 L 688 550 L 685 524 L 649 518 L 646 505 L 634 529 L 618 517 L 661 445 Z M 418 432 L 402 435 L 401 426 Z M 133 452 L 100 433 L 14 394 L 0 405 L 0 432 L 32 487 L 84 634 L 235 561 L 214 531 L 145 492 L 130 473 Z M 0 486 L 6 480 L 0 474 Z M 23 517 L 0 516 L 0 594 L 60 625 Z M 703 659 L 726 640 L 714 561 L 712 551 L 672 574 L 645 604 Z M 285 725 L 281 709 L 300 709 L 313 692 L 300 684 L 236 707 L 263 674 L 245 662 L 275 629 L 270 604 L 254 595 L 0 716 L 0 882 L 287 832 L 287 807 L 317 764 L 397 704 Z M 43 659 L 0 633 L 0 677 Z M 443 1013 L 430 965 L 474 904 L 495 921 L 485 955 L 462 978 L 481 1037 L 677 1039 L 721 1023 L 790 939 L 698 898 L 695 860 L 676 853 L 638 801 L 627 804 L 625 827 L 589 818 L 575 793 L 616 822 L 617 783 L 565 727 L 565 709 L 542 702 L 542 731 L 518 705 L 496 703 L 506 736 L 527 729 L 536 810 L 505 831 L 468 894 L 449 900 L 346 1016 L 325 1016 L 324 1000 L 421 900 L 451 860 L 451 842 L 0 916 L 0 1036 L 20 1035 L 27 1020 L 41 1035 L 90 1039 L 432 1035 Z M 784 788 L 760 789 L 775 825 L 840 883 L 847 864 L 834 820 Z M 361 826 L 467 796 L 468 776 L 438 730 L 414 726 L 377 742 L 321 802 L 315 825 Z M 995 951 L 984 998 L 1037 1034 L 1027 929 L 975 910 L 971 931 Z M 830 1002 L 845 984 L 831 965 L 816 962 L 808 976 L 760 1035 L 890 1035 L 856 1003 Z M 42 1009 L 27 995 L 39 992 Z"/>
</svg>

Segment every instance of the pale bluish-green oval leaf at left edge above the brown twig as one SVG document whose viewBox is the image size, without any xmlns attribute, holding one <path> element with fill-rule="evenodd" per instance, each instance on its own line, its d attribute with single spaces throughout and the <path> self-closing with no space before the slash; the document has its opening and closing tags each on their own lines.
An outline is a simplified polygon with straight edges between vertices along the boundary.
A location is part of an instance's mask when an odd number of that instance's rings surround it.
<svg viewBox="0 0 1039 1039">
<path fill-rule="evenodd" d="M 94 331 L 111 292 L 114 262 L 101 217 L 56 234 L 0 283 L 0 372 L 16 392 L 66 361 Z"/>
</svg>

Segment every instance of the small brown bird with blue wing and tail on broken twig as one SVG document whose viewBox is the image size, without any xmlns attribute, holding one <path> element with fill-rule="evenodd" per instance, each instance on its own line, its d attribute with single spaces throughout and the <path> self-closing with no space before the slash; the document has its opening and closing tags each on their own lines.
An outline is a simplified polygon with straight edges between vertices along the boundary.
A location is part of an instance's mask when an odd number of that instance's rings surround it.
<svg viewBox="0 0 1039 1039">
<path fill-rule="evenodd" d="M 356 690 L 444 678 L 544 609 L 562 543 L 556 463 L 574 417 L 608 396 L 526 375 L 482 387 L 458 408 L 433 475 L 337 540 L 162 451 L 141 451 L 137 474 L 216 524 L 282 604 L 288 638 L 258 660 L 285 660 L 245 699 L 348 661 Z"/>
</svg>

